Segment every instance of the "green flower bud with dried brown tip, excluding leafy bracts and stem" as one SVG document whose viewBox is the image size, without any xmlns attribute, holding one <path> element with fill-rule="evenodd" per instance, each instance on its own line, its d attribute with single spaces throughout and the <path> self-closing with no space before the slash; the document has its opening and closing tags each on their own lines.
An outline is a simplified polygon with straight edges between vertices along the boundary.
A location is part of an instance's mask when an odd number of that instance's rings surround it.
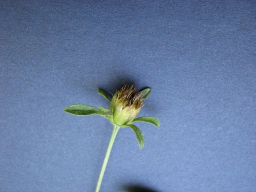
<svg viewBox="0 0 256 192">
<path fill-rule="evenodd" d="M 124 86 L 117 91 L 110 103 L 113 123 L 119 126 L 132 123 L 143 106 L 144 98 L 133 86 Z"/>
</svg>

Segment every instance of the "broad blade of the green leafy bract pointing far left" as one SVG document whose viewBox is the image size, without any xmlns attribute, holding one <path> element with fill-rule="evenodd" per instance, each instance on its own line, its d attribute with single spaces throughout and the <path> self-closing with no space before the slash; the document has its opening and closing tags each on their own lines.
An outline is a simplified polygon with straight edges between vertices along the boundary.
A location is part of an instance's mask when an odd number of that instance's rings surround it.
<svg viewBox="0 0 256 192">
<path fill-rule="evenodd" d="M 92 115 L 98 113 L 98 109 L 86 104 L 73 104 L 67 106 L 64 111 L 73 115 Z"/>
</svg>

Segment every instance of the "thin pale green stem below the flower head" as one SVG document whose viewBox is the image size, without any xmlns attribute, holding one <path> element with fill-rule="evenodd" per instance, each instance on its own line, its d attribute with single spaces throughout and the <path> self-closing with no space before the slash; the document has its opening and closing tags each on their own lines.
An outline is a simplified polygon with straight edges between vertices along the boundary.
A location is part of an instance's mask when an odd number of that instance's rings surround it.
<svg viewBox="0 0 256 192">
<path fill-rule="evenodd" d="M 111 152 L 111 149 L 112 149 L 112 146 L 114 144 L 114 141 L 115 141 L 115 138 L 116 138 L 116 135 L 117 135 L 117 132 L 118 132 L 119 128 L 120 127 L 117 126 L 117 125 L 114 125 L 114 127 L 113 127 L 113 132 L 112 132 L 112 135 L 111 135 L 111 138 L 110 138 L 108 150 L 106 150 L 105 159 L 104 159 L 102 167 L 101 167 L 101 171 L 100 171 L 100 174 L 99 174 L 99 180 L 98 180 L 95 192 L 99 192 L 100 185 L 101 185 L 101 182 L 102 182 L 102 179 L 103 179 L 103 176 L 104 176 L 104 172 L 105 172 L 105 169 L 106 169 L 106 164 L 108 164 L 108 160 L 109 160 L 109 157 L 110 157 L 110 152 Z"/>
</svg>

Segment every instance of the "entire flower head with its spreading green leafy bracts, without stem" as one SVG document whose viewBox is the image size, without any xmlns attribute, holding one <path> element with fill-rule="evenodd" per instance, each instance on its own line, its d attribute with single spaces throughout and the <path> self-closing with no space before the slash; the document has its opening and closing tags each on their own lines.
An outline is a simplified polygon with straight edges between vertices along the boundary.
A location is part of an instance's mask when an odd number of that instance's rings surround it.
<svg viewBox="0 0 256 192">
<path fill-rule="evenodd" d="M 131 127 L 137 137 L 140 148 L 144 146 L 144 137 L 140 129 L 131 124 L 136 121 L 151 123 L 157 127 L 160 126 L 159 120 L 156 117 L 138 117 L 138 113 L 142 109 L 143 101 L 151 93 L 151 88 L 143 89 L 136 92 L 133 86 L 124 86 L 117 91 L 113 98 L 110 99 L 108 94 L 102 89 L 98 90 L 106 100 L 110 102 L 109 109 L 99 106 L 98 109 L 86 104 L 73 104 L 64 109 L 65 112 L 73 115 L 100 115 L 107 118 L 112 124 L 118 127 Z"/>
</svg>

